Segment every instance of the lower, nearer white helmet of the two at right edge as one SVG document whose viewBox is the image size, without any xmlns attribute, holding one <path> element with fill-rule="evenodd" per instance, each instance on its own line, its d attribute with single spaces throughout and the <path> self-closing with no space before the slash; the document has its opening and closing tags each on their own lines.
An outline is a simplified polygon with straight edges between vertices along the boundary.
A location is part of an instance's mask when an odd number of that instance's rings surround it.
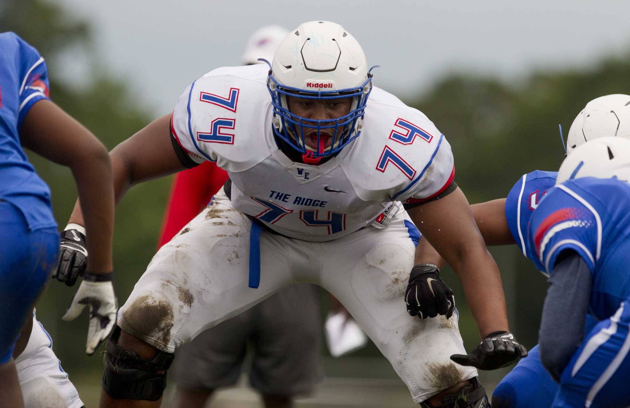
<svg viewBox="0 0 630 408">
<path fill-rule="evenodd" d="M 556 185 L 581 177 L 630 181 L 630 140 L 607 136 L 582 144 L 562 162 Z"/>
</svg>

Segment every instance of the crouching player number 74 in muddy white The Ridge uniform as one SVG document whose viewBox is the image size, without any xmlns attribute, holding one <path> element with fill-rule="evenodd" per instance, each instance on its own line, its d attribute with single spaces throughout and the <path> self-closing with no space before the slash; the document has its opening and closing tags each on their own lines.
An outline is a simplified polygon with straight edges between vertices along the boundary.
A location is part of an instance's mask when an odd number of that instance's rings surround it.
<svg viewBox="0 0 630 408">
<path fill-rule="evenodd" d="M 172 115 L 110 154 L 118 199 L 204 160 L 230 180 L 157 252 L 120 309 L 101 407 L 159 406 L 176 347 L 295 282 L 338 298 L 415 402 L 486 407 L 476 368 L 449 358 L 465 353 L 452 291 L 415 255 L 410 218 L 453 265 L 493 345 L 475 349 L 475 364 L 498 368 L 527 353 L 508 333 L 500 274 L 453 182 L 449 143 L 372 87 L 362 48 L 340 25 L 302 24 L 271 69 L 205 74 Z M 78 207 L 71 222 L 83 223 Z"/>
</svg>

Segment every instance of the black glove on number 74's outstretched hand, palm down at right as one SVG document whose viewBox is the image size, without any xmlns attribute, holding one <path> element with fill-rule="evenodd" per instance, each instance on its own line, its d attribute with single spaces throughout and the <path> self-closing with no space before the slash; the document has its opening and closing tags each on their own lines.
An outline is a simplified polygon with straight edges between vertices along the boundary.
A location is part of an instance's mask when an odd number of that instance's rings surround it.
<svg viewBox="0 0 630 408">
<path fill-rule="evenodd" d="M 453 354 L 450 359 L 462 366 L 479 370 L 496 370 L 527 357 L 527 349 L 510 332 L 492 332 L 468 354 Z"/>
</svg>

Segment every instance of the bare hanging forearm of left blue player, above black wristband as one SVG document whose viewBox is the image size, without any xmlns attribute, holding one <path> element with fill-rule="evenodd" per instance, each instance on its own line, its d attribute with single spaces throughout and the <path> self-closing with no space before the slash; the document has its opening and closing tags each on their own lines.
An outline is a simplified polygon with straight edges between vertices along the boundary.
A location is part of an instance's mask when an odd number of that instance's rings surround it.
<svg viewBox="0 0 630 408">
<path fill-rule="evenodd" d="M 105 151 L 105 149 L 103 149 Z M 106 151 L 105 151 L 106 153 Z M 76 181 L 77 191 L 81 199 L 80 211 L 83 216 L 88 254 L 88 271 L 92 273 L 106 273 L 113 269 L 112 264 L 112 233 L 114 218 L 114 200 L 112 189 L 112 165 L 105 154 L 86 157 L 75 162 L 72 175 Z M 77 201 L 78 203 L 78 201 Z M 75 207 L 75 211 L 77 207 Z M 71 218 L 71 222 L 72 218 Z"/>
</svg>

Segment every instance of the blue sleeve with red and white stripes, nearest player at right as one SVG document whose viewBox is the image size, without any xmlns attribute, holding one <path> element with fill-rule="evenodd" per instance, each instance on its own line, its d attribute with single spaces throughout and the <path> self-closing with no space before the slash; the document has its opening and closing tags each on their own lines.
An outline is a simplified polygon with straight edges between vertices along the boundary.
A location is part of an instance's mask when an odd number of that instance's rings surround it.
<svg viewBox="0 0 630 408">
<path fill-rule="evenodd" d="M 547 274 L 563 250 L 577 252 L 591 272 L 600 256 L 602 220 L 589 197 L 571 187 L 567 182 L 550 190 L 530 220 L 528 239 L 534 262 Z"/>
</svg>

